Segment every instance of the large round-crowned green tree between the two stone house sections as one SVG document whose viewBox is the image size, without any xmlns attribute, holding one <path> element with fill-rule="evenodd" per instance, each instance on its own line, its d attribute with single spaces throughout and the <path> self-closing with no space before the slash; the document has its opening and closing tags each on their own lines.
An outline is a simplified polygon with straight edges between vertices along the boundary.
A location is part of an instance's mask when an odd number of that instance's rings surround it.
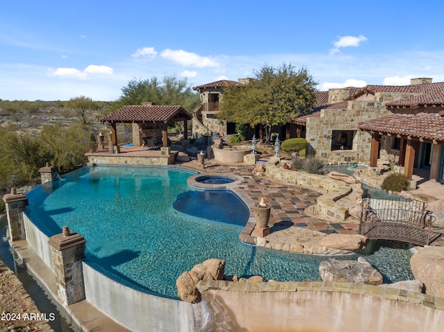
<svg viewBox="0 0 444 332">
<path fill-rule="evenodd" d="M 265 64 L 254 71 L 254 76 L 242 87 L 233 85 L 224 89 L 218 118 L 248 123 L 251 127 L 262 124 L 270 144 L 273 125 L 284 125 L 311 109 L 317 83 L 307 68 L 296 70 L 291 64 L 278 68 Z"/>
</svg>

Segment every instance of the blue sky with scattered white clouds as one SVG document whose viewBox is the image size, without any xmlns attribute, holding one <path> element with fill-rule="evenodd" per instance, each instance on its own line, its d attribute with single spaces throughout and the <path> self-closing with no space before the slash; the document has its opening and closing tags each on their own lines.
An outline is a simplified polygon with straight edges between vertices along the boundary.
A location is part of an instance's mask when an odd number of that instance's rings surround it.
<svg viewBox="0 0 444 332">
<path fill-rule="evenodd" d="M 307 67 L 318 89 L 444 81 L 441 1 L 2 1 L 0 98 L 114 101 L 132 79 L 189 85 Z"/>
</svg>

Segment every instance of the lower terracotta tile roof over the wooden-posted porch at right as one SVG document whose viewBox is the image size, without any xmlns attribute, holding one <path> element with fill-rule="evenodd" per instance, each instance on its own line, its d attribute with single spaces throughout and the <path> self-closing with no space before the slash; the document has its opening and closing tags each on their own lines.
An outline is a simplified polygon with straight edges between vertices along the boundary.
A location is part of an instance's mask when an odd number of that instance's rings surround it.
<svg viewBox="0 0 444 332">
<path fill-rule="evenodd" d="M 360 122 L 358 128 L 364 131 L 374 130 L 384 133 L 444 141 L 444 112 L 390 114 L 388 116 Z"/>
</svg>

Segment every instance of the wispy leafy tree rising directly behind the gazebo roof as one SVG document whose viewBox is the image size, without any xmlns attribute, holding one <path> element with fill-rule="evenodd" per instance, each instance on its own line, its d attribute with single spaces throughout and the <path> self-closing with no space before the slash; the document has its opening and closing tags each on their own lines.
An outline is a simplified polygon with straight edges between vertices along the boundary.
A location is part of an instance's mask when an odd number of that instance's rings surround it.
<svg viewBox="0 0 444 332">
<path fill-rule="evenodd" d="M 146 80 L 133 79 L 121 91 L 117 107 L 152 102 L 157 105 L 181 105 L 192 112 L 199 103 L 199 96 L 188 85 L 187 79 L 178 79 L 175 76 L 165 76 L 162 80 L 155 77 Z"/>
</svg>

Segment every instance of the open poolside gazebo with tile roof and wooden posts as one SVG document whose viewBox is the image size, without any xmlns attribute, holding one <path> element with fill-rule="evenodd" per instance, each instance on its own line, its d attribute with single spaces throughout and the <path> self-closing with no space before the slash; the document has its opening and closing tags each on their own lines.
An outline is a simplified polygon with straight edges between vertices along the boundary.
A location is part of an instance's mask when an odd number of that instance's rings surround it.
<svg viewBox="0 0 444 332">
<path fill-rule="evenodd" d="M 153 105 L 153 103 L 142 103 L 142 105 L 125 105 L 118 110 L 104 116 L 102 123 L 111 125 L 110 139 L 114 145 L 117 144 L 117 123 L 133 124 L 133 145 L 154 146 L 155 142 L 162 141 L 161 150 L 169 153 L 168 124 L 183 121 L 184 137 L 188 137 L 187 121 L 192 116 L 180 105 Z"/>
</svg>

